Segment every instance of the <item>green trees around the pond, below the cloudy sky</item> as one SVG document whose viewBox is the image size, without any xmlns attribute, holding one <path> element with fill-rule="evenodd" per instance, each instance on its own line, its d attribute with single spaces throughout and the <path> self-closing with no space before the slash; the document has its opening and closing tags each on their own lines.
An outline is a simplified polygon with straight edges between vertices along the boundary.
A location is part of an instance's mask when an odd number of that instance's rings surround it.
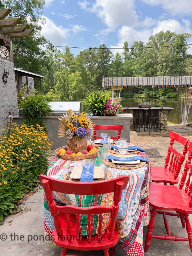
<svg viewBox="0 0 192 256">
<path fill-rule="evenodd" d="M 46 38 L 40 36 L 43 20 L 44 0 L 9 0 L 1 1 L 2 7 L 12 9 L 9 17 L 21 17 L 20 23 L 30 23 L 35 32 L 27 38 L 13 39 L 14 66 L 39 73 L 45 76 L 42 81 L 42 92 L 50 100 L 81 100 L 93 89 L 102 88 L 103 77 L 132 76 L 186 76 L 192 74 L 192 55 L 188 47 L 162 47 L 185 45 L 191 37 L 188 33 L 177 34 L 172 31 L 161 31 L 151 35 L 144 43 L 133 42 L 132 46 L 125 41 L 122 51 L 113 53 L 105 44 L 98 48 L 84 49 L 76 56 L 69 47 L 59 49 Z M 48 47 L 40 45 L 47 44 Z M 19 50 L 21 46 L 22 50 Z M 127 49 L 131 47 L 132 49 Z M 154 47 L 154 48 L 147 48 Z M 131 54 L 133 53 L 133 58 Z M 36 81 L 38 87 L 38 81 Z M 160 95 L 161 94 L 161 95 Z M 174 89 L 161 92 L 145 87 L 130 87 L 123 90 L 124 97 L 176 97 Z"/>
</svg>

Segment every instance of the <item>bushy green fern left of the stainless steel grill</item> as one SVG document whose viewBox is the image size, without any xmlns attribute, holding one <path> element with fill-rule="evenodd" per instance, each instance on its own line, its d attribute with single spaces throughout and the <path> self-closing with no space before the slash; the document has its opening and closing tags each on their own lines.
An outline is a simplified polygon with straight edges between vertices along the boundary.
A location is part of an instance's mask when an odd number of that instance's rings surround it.
<svg viewBox="0 0 192 256">
<path fill-rule="evenodd" d="M 33 93 L 27 95 L 26 99 L 21 102 L 23 113 L 27 118 L 38 118 L 40 116 L 50 115 L 51 109 L 46 96 L 42 93 Z"/>
</svg>

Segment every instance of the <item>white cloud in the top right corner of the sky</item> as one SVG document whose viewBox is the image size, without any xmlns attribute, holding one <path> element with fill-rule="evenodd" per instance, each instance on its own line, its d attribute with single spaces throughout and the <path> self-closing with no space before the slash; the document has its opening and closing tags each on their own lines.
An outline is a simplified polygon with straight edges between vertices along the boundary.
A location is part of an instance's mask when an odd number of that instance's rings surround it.
<svg viewBox="0 0 192 256">
<path fill-rule="evenodd" d="M 143 0 L 143 2 L 151 6 L 161 5 L 172 16 L 177 14 L 192 14 L 191 0 Z"/>
</svg>

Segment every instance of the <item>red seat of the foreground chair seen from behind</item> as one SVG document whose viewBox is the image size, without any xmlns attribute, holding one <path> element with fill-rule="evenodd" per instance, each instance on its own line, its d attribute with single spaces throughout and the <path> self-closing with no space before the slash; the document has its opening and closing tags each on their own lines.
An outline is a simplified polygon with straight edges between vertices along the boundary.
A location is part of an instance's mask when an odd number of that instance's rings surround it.
<svg viewBox="0 0 192 256">
<path fill-rule="evenodd" d="M 81 243 L 79 244 L 77 241 L 77 222 L 74 222 L 74 229 L 71 229 L 71 242 L 67 240 L 67 232 L 66 232 L 66 220 L 65 220 L 65 214 L 59 213 L 59 219 L 61 221 L 61 225 L 63 227 L 63 237 L 58 237 L 56 229 L 54 229 L 52 233 L 52 237 L 54 238 L 54 243 L 57 244 L 60 247 L 65 247 L 68 249 L 73 250 L 81 250 L 81 251 L 89 251 L 90 247 L 91 250 L 103 250 L 110 247 L 115 246 L 119 241 L 119 233 L 118 229 L 115 226 L 114 234 L 111 240 L 108 240 L 107 238 L 107 230 L 105 230 L 105 233 L 102 234 L 102 242 L 99 243 L 97 239 L 97 235 L 91 236 L 91 245 L 88 243 L 87 237 L 84 238 Z M 74 239 L 73 239 L 74 236 Z"/>
</svg>

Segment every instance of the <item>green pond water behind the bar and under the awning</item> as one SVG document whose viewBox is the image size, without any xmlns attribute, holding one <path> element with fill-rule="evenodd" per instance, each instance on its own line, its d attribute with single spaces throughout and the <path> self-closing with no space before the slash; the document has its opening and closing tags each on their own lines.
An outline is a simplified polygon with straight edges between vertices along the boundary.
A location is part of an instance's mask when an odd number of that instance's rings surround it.
<svg viewBox="0 0 192 256">
<path fill-rule="evenodd" d="M 123 99 L 120 101 L 121 105 L 123 105 L 124 107 L 137 106 L 140 102 L 142 102 L 141 99 Z M 169 98 L 169 99 L 154 99 L 154 98 L 152 98 L 152 99 L 143 99 L 143 102 L 150 102 L 152 106 L 162 106 L 162 107 L 174 108 L 173 110 L 170 111 L 169 114 L 167 114 L 167 121 L 172 122 L 174 124 L 182 123 L 180 98 L 178 98 L 178 99 L 171 99 L 171 98 Z M 188 102 L 188 104 L 189 104 L 189 102 Z M 191 105 L 192 105 L 192 103 L 191 103 Z M 192 123 L 192 106 L 191 106 L 191 111 L 190 111 L 189 117 L 188 117 L 188 123 Z"/>
</svg>

